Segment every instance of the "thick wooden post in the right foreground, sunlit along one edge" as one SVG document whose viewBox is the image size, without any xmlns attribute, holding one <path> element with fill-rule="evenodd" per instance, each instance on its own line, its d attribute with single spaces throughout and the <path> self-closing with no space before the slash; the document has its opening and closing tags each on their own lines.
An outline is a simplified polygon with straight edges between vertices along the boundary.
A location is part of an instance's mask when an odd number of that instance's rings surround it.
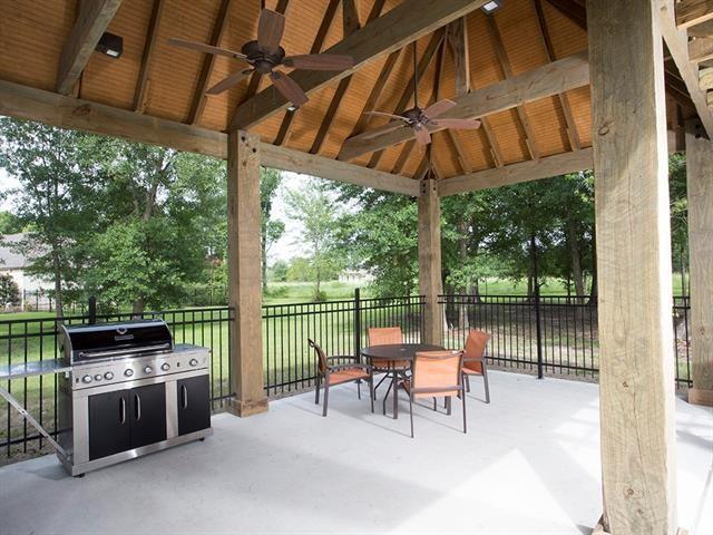
<svg viewBox="0 0 713 535">
<path fill-rule="evenodd" d="M 656 0 L 587 0 L 604 529 L 676 533 L 663 45 Z"/>
</svg>

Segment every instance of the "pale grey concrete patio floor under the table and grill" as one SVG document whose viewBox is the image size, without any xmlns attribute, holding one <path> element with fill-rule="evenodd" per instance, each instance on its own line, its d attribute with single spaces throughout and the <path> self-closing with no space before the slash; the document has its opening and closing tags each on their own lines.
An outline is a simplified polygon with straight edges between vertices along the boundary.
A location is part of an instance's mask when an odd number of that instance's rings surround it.
<svg viewBox="0 0 713 535">
<path fill-rule="evenodd" d="M 205 442 L 85 478 L 53 456 L 0 468 L 0 533 L 588 534 L 602 513 L 596 385 L 492 372 L 451 417 L 408 401 L 369 412 L 355 387 L 330 415 L 312 393 L 248 419 L 214 417 Z M 677 400 L 678 518 L 713 533 L 713 411 Z"/>
</svg>

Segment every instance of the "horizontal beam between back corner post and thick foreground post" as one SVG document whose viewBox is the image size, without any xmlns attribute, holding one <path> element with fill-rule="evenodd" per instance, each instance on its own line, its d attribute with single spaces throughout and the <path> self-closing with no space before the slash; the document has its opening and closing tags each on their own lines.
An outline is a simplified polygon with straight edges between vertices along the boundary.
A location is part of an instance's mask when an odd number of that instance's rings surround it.
<svg viewBox="0 0 713 535">
<path fill-rule="evenodd" d="M 478 171 L 461 176 L 446 178 L 439 183 L 442 197 L 459 193 L 509 186 L 521 182 L 539 181 L 553 176 L 577 173 L 593 167 L 592 148 L 583 148 L 540 159 L 530 159 L 499 168 Z"/>
</svg>

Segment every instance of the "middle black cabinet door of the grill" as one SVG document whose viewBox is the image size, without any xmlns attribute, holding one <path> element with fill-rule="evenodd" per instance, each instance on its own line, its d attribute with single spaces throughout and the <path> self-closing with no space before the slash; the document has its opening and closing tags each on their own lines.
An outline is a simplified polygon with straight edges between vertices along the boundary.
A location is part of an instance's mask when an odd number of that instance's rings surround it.
<svg viewBox="0 0 713 535">
<path fill-rule="evenodd" d="M 166 440 L 166 386 L 133 388 L 129 401 L 131 448 Z"/>
</svg>

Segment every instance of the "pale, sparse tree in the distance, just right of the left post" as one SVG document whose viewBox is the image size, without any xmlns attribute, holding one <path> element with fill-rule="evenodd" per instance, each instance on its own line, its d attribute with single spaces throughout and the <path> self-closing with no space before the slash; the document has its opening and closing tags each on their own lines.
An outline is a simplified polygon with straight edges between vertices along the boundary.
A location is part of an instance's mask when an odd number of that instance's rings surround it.
<svg viewBox="0 0 713 535">
<path fill-rule="evenodd" d="M 300 189 L 287 189 L 285 202 L 287 216 L 302 225 L 300 242 L 310 250 L 314 298 L 322 300 L 322 282 L 342 264 L 336 247 L 335 200 L 321 181 L 311 178 Z"/>
</svg>

